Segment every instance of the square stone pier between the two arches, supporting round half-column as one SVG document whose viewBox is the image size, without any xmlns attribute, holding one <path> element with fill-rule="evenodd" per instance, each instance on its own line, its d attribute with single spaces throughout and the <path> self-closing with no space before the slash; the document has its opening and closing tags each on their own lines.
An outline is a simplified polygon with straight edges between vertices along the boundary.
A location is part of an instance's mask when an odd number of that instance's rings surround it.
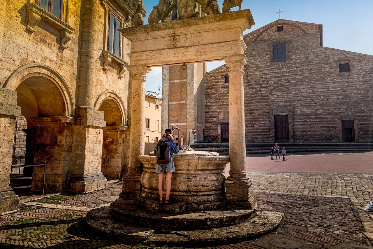
<svg viewBox="0 0 373 249">
<path fill-rule="evenodd" d="M 75 109 L 72 126 L 72 158 L 66 190 L 87 193 L 106 186 L 101 173 L 104 112 L 89 107 Z"/>
</svg>

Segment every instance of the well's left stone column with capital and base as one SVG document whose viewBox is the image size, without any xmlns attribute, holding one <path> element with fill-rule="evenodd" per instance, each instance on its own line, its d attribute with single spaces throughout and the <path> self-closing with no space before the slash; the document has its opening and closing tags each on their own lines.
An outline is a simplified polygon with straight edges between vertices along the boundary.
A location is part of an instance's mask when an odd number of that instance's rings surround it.
<svg viewBox="0 0 373 249">
<path fill-rule="evenodd" d="M 134 199 L 141 192 L 142 165 L 137 156 L 145 149 L 145 75 L 151 69 L 145 65 L 128 66 L 132 74 L 131 138 L 129 142 L 129 171 L 123 176 L 121 199 Z"/>
</svg>

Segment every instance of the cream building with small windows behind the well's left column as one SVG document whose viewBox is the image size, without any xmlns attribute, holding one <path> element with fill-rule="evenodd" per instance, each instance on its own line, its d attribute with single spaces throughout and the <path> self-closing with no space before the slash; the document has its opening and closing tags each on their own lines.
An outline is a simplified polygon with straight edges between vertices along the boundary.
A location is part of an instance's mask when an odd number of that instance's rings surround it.
<svg viewBox="0 0 373 249">
<path fill-rule="evenodd" d="M 159 139 L 162 138 L 161 114 L 162 105 L 157 105 L 159 99 L 153 95 L 145 95 L 145 151 L 144 155 L 149 155 L 154 150 Z"/>
</svg>

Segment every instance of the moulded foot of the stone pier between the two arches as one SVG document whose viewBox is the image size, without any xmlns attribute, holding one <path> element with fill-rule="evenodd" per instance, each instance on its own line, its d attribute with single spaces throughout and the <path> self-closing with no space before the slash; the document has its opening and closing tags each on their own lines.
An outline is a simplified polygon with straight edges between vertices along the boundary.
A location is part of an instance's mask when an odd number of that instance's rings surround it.
<svg viewBox="0 0 373 249">
<path fill-rule="evenodd" d="M 106 178 L 101 172 L 87 175 L 70 175 L 66 191 L 72 193 L 88 193 L 106 187 Z"/>
</svg>

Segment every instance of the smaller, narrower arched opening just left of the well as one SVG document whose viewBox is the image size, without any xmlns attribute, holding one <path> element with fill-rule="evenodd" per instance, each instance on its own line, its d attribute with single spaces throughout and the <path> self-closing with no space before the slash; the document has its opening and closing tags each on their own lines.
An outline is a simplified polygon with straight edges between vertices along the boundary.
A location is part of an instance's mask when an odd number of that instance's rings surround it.
<svg viewBox="0 0 373 249">
<path fill-rule="evenodd" d="M 112 97 L 105 98 L 98 110 L 104 112 L 104 120 L 106 121 L 103 133 L 101 172 L 107 179 L 120 179 L 124 167 L 122 110 L 119 102 Z"/>
</svg>

